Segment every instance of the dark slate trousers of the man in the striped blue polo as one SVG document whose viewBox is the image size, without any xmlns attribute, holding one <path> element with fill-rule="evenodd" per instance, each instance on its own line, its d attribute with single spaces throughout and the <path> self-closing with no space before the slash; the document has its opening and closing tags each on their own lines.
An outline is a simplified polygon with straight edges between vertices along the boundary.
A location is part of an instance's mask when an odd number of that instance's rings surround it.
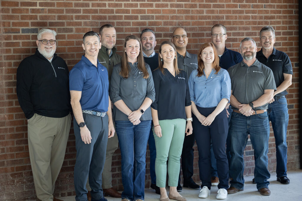
<svg viewBox="0 0 302 201">
<path fill-rule="evenodd" d="M 92 200 L 105 200 L 102 189 L 102 172 L 106 157 L 108 140 L 108 116 L 98 117 L 83 113 L 83 118 L 90 131 L 90 144 L 82 141 L 80 128 L 73 120 L 73 129 L 76 136 L 76 164 L 74 168 L 74 183 L 76 200 L 87 200 L 86 183 L 89 177 Z"/>
</svg>

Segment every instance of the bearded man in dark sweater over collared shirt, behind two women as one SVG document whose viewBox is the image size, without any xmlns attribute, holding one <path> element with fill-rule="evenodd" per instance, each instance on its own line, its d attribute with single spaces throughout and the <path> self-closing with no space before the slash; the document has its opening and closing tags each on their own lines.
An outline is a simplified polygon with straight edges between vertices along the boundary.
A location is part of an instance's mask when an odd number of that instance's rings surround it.
<svg viewBox="0 0 302 201">
<path fill-rule="evenodd" d="M 149 64 L 151 71 L 158 67 L 158 54 L 155 53 L 154 48 L 156 46 L 155 33 L 151 29 L 144 29 L 140 34 L 140 41 L 142 42 L 143 56 L 147 64 Z M 155 175 L 155 159 L 156 159 L 156 148 L 155 140 L 151 129 L 149 133 L 148 145 L 150 150 L 150 177 L 151 185 L 150 187 L 155 190 L 157 194 L 160 195 L 159 187 L 156 186 L 156 175 Z"/>
</svg>

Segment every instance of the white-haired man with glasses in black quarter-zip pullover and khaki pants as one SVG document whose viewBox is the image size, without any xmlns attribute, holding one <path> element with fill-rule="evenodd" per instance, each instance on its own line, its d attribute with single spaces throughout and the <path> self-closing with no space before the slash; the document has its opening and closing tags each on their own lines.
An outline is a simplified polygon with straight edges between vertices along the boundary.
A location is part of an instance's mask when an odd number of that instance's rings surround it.
<svg viewBox="0 0 302 201">
<path fill-rule="evenodd" d="M 56 32 L 41 29 L 36 53 L 17 69 L 17 96 L 27 118 L 28 149 L 39 200 L 53 197 L 71 124 L 69 71 L 55 54 Z"/>
</svg>

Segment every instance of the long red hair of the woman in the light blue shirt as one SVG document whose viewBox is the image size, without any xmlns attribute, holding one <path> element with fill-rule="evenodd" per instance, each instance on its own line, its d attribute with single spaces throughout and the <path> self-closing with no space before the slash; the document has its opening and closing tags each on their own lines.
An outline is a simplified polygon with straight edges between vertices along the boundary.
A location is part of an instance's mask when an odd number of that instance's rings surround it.
<svg viewBox="0 0 302 201">
<path fill-rule="evenodd" d="M 204 74 L 204 62 L 202 61 L 200 55 L 201 55 L 201 52 L 207 47 L 212 47 L 213 50 L 214 50 L 214 57 L 215 58 L 214 58 L 214 61 L 212 63 L 212 68 L 215 69 L 215 71 L 216 71 L 215 74 L 217 74 L 218 71 L 220 70 L 219 58 L 218 58 L 218 54 L 217 54 L 217 51 L 216 51 L 216 48 L 215 48 L 214 44 L 213 43 L 204 43 L 204 44 L 201 45 L 201 47 L 198 51 L 198 55 L 197 55 L 197 57 L 198 57 L 198 68 L 197 68 L 198 73 L 197 73 L 197 76 L 198 77 L 200 77 Z"/>
</svg>

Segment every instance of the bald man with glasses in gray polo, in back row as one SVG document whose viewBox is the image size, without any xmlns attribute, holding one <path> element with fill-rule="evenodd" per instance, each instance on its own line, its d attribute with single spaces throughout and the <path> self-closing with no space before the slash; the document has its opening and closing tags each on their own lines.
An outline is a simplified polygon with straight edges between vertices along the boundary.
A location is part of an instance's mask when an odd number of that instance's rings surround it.
<svg viewBox="0 0 302 201">
<path fill-rule="evenodd" d="M 179 69 L 184 70 L 188 78 L 191 72 L 198 67 L 197 55 L 190 54 L 186 48 L 188 45 L 187 32 L 181 28 L 177 27 L 172 33 L 172 42 L 175 45 L 177 51 L 177 65 Z M 184 177 L 183 186 L 188 187 L 193 190 L 200 189 L 193 179 L 193 160 L 194 160 L 194 135 L 185 136 L 184 144 L 182 147 L 182 175 Z M 180 185 L 180 177 L 178 181 L 177 191 L 182 191 Z"/>
</svg>

